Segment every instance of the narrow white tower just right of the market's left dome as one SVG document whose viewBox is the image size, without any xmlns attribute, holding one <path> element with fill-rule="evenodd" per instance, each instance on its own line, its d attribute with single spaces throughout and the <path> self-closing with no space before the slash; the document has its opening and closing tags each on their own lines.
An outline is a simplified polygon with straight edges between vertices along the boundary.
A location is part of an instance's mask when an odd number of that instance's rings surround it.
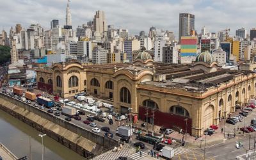
<svg viewBox="0 0 256 160">
<path fill-rule="evenodd" d="M 163 47 L 166 46 L 168 40 L 169 38 L 164 32 L 156 35 L 156 41 L 154 42 L 154 61 L 163 61 Z"/>
</svg>

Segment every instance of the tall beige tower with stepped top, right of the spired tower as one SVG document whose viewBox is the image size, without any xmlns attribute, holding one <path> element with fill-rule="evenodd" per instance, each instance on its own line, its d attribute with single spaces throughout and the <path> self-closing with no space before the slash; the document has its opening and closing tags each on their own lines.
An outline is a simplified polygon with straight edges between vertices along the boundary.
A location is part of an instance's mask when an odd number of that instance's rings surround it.
<svg viewBox="0 0 256 160">
<path fill-rule="evenodd" d="M 104 33 L 108 31 L 104 11 L 97 11 L 93 19 L 93 31 Z"/>
</svg>

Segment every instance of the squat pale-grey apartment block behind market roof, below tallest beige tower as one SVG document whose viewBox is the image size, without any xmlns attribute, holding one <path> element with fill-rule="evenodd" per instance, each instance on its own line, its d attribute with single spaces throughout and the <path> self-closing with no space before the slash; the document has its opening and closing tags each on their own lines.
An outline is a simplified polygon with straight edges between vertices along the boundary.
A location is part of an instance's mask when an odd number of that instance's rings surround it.
<svg viewBox="0 0 256 160">
<path fill-rule="evenodd" d="M 94 47 L 92 52 L 92 63 L 103 64 L 108 63 L 108 50 L 101 46 Z"/>
</svg>

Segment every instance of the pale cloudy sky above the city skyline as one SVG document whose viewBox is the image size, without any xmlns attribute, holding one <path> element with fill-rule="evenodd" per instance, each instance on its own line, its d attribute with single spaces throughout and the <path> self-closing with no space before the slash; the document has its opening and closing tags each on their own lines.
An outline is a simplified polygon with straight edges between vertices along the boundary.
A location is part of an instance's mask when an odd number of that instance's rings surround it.
<svg viewBox="0 0 256 160">
<path fill-rule="evenodd" d="M 210 32 L 230 28 L 248 32 L 255 28 L 256 0 L 71 0 L 72 26 L 82 26 L 93 20 L 97 10 L 105 12 L 107 24 L 115 28 L 129 29 L 132 35 L 140 31 L 148 34 L 151 26 L 179 34 L 179 13 L 195 15 L 195 29 L 201 33 L 202 26 Z M 28 28 L 40 23 L 50 28 L 52 19 L 65 25 L 67 0 L 1 0 L 0 29 L 20 23 Z"/>
</svg>

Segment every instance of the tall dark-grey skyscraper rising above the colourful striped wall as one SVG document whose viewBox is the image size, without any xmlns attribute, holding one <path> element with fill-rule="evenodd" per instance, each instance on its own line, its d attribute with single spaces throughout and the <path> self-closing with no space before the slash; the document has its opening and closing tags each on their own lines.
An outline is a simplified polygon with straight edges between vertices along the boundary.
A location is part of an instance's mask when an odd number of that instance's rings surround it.
<svg viewBox="0 0 256 160">
<path fill-rule="evenodd" d="M 181 36 L 189 36 L 195 30 L 195 15 L 190 13 L 180 13 L 179 18 L 179 41 Z"/>
</svg>

